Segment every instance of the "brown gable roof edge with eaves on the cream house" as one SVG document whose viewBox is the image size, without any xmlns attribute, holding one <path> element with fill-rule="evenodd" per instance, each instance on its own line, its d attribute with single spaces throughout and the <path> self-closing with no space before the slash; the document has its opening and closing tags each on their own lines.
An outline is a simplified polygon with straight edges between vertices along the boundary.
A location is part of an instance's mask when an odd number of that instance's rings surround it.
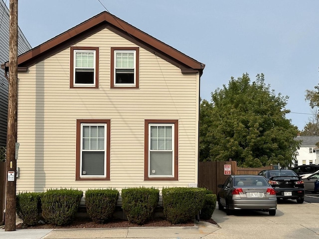
<svg viewBox="0 0 319 239">
<path fill-rule="evenodd" d="M 18 68 L 20 68 L 20 70 L 26 70 L 27 67 L 54 55 L 58 51 L 65 49 L 104 28 L 110 29 L 111 31 L 179 67 L 182 73 L 199 72 L 201 75 L 205 67 L 204 64 L 170 47 L 115 15 L 103 11 L 100 14 L 93 16 L 79 25 L 18 56 Z M 8 62 L 1 65 L 1 68 L 7 67 Z"/>
</svg>

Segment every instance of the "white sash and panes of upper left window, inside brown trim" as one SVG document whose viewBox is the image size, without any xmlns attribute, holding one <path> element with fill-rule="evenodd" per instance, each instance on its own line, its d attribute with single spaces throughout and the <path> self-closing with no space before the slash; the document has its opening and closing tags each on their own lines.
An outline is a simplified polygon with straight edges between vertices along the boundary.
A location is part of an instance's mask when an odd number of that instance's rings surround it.
<svg viewBox="0 0 319 239">
<path fill-rule="evenodd" d="M 95 50 L 74 50 L 73 51 L 73 85 L 92 87 L 96 84 L 96 51 Z M 76 82 L 77 74 L 85 73 L 87 76 L 93 73 L 93 81 L 89 83 Z M 91 83 L 92 82 L 92 83 Z"/>
</svg>

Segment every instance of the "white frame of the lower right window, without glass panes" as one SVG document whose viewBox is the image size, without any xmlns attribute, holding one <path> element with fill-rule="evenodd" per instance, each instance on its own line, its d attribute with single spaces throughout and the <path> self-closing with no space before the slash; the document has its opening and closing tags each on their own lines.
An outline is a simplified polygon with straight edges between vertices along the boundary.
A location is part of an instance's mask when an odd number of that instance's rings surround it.
<svg viewBox="0 0 319 239">
<path fill-rule="evenodd" d="M 171 138 L 171 150 L 151 150 L 151 126 L 171 126 L 171 132 L 172 132 L 172 138 Z M 149 123 L 149 149 L 148 149 L 148 154 L 149 154 L 149 168 L 148 168 L 148 176 L 150 178 L 173 178 L 174 172 L 175 172 L 175 163 L 174 163 L 174 155 L 175 155 L 175 125 L 174 123 Z M 172 158 L 171 158 L 171 164 L 172 164 L 172 174 L 171 175 L 151 175 L 151 151 L 169 151 L 172 152 Z"/>
</svg>

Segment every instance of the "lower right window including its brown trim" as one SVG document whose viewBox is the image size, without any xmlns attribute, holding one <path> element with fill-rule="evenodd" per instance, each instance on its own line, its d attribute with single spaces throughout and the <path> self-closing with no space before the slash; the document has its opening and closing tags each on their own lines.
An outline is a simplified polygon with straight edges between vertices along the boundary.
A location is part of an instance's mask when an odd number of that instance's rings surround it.
<svg viewBox="0 0 319 239">
<path fill-rule="evenodd" d="M 177 120 L 146 120 L 146 180 L 177 180 Z"/>
</svg>

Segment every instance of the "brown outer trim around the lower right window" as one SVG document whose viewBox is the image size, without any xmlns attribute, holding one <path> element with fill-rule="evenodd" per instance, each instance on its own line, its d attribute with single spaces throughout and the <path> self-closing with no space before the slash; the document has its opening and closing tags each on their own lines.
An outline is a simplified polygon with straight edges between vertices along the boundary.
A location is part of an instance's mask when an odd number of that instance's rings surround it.
<svg viewBox="0 0 319 239">
<path fill-rule="evenodd" d="M 174 177 L 149 177 L 149 124 L 174 124 Z M 144 180 L 145 181 L 177 181 L 178 180 L 178 120 L 177 119 L 145 119 L 144 122 Z"/>
</svg>

